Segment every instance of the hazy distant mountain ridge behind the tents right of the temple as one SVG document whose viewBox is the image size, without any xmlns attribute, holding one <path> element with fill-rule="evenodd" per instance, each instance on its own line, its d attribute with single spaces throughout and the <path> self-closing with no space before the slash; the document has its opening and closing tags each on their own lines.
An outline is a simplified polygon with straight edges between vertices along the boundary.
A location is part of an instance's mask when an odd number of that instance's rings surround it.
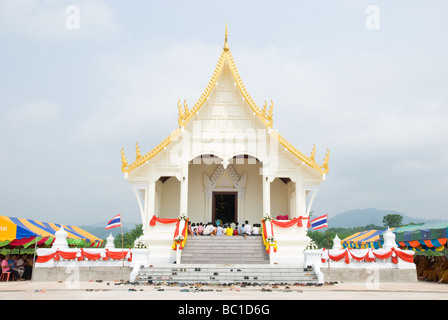
<svg viewBox="0 0 448 320">
<path fill-rule="evenodd" d="M 402 212 L 395 210 L 378 210 L 378 209 L 354 209 L 342 213 L 338 213 L 335 216 L 329 216 L 328 226 L 341 227 L 341 228 L 354 228 L 362 227 L 369 224 L 377 226 L 383 225 L 383 217 L 388 214 L 399 214 L 403 217 L 403 224 L 414 223 L 441 223 L 446 222 L 442 219 L 421 219 L 409 217 Z"/>
</svg>

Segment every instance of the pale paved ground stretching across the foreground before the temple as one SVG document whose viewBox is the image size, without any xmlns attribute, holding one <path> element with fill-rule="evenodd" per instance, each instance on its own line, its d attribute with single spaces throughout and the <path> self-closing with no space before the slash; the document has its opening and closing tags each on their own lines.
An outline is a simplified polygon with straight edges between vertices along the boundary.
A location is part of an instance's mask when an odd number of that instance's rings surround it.
<svg viewBox="0 0 448 320">
<path fill-rule="evenodd" d="M 1 300 L 448 300 L 448 285 L 428 282 L 295 286 L 154 286 L 118 281 L 0 283 Z"/>
</svg>

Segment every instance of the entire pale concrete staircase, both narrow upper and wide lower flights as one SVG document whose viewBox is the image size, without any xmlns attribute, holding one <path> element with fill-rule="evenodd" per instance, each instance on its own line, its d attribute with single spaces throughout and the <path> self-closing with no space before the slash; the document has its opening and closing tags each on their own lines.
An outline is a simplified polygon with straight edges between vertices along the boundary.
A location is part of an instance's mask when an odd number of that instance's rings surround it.
<svg viewBox="0 0 448 320">
<path fill-rule="evenodd" d="M 317 284 L 312 269 L 269 264 L 259 236 L 196 236 L 187 239 L 181 264 L 141 268 L 136 282 L 146 283 L 302 283 Z"/>
</svg>

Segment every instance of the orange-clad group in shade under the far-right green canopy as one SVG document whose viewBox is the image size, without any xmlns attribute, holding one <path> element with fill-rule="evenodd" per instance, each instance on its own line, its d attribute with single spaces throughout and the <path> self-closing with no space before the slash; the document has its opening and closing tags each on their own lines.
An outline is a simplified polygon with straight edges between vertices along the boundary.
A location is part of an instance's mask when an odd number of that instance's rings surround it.
<svg viewBox="0 0 448 320">
<path fill-rule="evenodd" d="M 446 256 L 414 256 L 417 277 L 421 281 L 448 283 L 448 258 Z"/>
</svg>

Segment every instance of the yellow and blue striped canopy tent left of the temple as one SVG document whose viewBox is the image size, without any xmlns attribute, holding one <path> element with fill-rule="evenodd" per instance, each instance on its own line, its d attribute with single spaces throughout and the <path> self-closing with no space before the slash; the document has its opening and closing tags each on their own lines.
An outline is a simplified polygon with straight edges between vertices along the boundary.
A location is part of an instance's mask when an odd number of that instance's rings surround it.
<svg viewBox="0 0 448 320">
<path fill-rule="evenodd" d="M 31 219 L 0 216 L 0 247 L 49 246 L 61 228 L 67 231 L 69 246 L 100 247 L 103 240 L 76 226 L 40 222 Z"/>
</svg>

